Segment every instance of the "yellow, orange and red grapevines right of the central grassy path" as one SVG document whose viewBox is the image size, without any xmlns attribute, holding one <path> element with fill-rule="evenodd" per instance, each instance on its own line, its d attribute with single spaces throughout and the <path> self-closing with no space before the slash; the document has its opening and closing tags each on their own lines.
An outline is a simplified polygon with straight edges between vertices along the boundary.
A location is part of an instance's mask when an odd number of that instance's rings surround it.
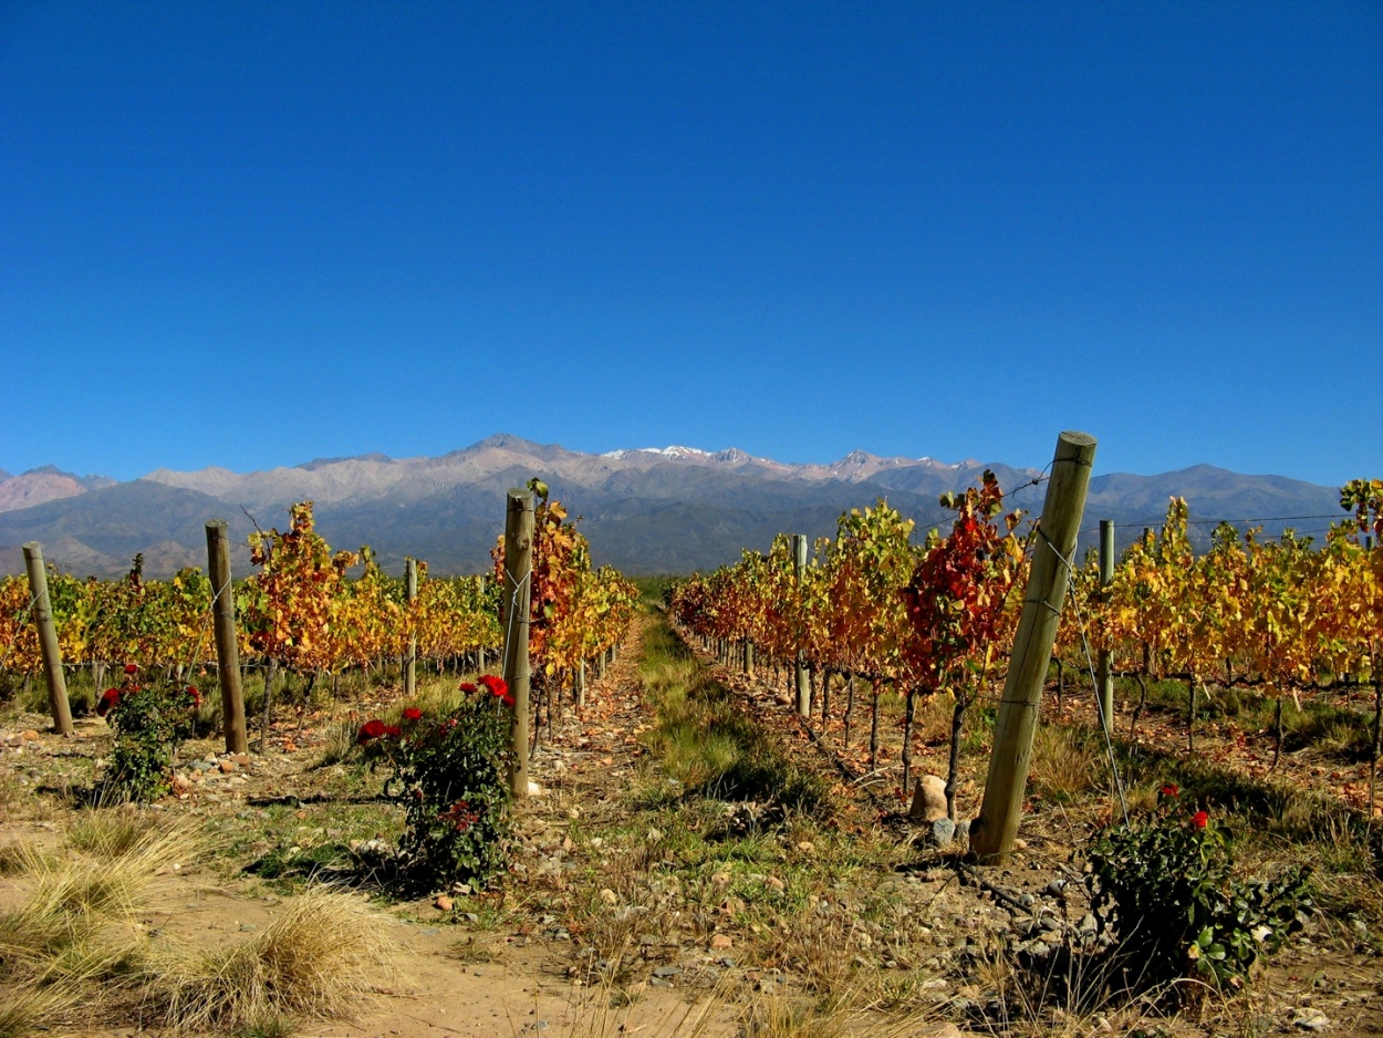
<svg viewBox="0 0 1383 1038">
<path fill-rule="evenodd" d="M 1296 537 L 1263 541 L 1225 523 L 1212 551 L 1195 555 L 1185 501 L 1173 500 L 1160 531 L 1148 531 L 1101 577 L 1095 554 L 1069 573 L 1069 597 L 1055 644 L 1058 686 L 1066 674 L 1134 681 L 1141 695 L 1127 724 L 1137 728 L 1149 684 L 1187 686 L 1188 752 L 1195 749 L 1198 693 L 1259 689 L 1277 704 L 1303 693 L 1346 704 L 1372 692 L 1371 717 L 1354 714 L 1366 747 L 1369 781 L 1347 792 L 1369 815 L 1383 721 L 1383 516 L 1377 480 L 1342 490 L 1351 512 L 1324 545 Z M 913 523 L 885 502 L 842 515 L 834 538 L 798 554 L 801 538 L 779 536 L 766 554 L 680 584 L 672 614 L 718 657 L 732 653 L 745 673 L 786 675 L 804 717 L 819 718 L 856 774 L 884 761 L 880 717 L 887 700 L 902 704 L 900 792 L 911 789 L 914 718 L 920 702 L 953 704 L 949 812 L 954 818 L 956 754 L 969 707 L 997 695 L 997 678 L 1018 627 L 1021 588 L 1043 541 L 1036 526 L 1004 509 L 992 473 L 942 504 L 956 512 L 945 534 L 913 543 Z M 1017 590 L 1017 592 L 1015 592 Z M 799 688 L 805 670 L 809 686 Z M 833 699 L 833 682 L 837 695 Z M 844 702 L 842 702 L 844 700 Z M 882 706 L 881 706 L 882 703 Z M 815 710 L 813 710 L 815 704 Z M 867 718 L 860 718 L 860 710 Z M 1109 718 L 1113 721 L 1113 718 Z M 860 736 L 863 727 L 867 735 Z M 852 738 L 857 747 L 852 753 Z"/>
</svg>

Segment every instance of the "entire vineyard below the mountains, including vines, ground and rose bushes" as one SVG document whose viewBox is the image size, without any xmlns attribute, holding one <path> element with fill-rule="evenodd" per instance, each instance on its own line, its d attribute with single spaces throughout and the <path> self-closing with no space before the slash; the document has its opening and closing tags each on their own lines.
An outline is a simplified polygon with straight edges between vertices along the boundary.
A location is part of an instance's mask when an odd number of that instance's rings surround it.
<svg viewBox="0 0 1383 1038">
<path fill-rule="evenodd" d="M 853 509 L 661 609 L 537 480 L 476 576 L 301 502 L 234 583 L 6 580 L 0 1034 L 1383 1034 L 1383 483 L 1319 544 L 1196 554 L 1173 500 L 1079 563 L 1012 497 Z"/>
</svg>

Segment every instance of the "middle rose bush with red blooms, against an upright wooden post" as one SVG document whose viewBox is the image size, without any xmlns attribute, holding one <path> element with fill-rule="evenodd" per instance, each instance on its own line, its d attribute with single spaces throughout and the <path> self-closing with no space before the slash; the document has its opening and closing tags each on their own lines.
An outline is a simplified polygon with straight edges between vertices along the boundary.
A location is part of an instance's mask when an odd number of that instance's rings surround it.
<svg viewBox="0 0 1383 1038">
<path fill-rule="evenodd" d="M 513 704 L 494 675 L 465 684 L 461 704 L 440 720 L 408 709 L 398 725 L 373 720 L 357 740 L 372 764 L 391 770 L 384 792 L 402 803 L 398 851 L 414 887 L 484 884 L 501 872 L 509 846 L 508 740 Z"/>
</svg>

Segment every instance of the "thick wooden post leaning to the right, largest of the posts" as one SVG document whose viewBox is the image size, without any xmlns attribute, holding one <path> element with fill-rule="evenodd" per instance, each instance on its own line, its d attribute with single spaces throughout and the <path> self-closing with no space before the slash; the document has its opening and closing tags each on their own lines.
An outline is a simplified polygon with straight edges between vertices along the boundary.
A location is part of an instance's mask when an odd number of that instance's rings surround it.
<svg viewBox="0 0 1383 1038">
<path fill-rule="evenodd" d="M 1076 551 L 1080 516 L 1086 509 L 1095 437 L 1064 432 L 1057 437 L 1051 480 L 1043 502 L 1033 547 L 1023 610 L 1004 680 L 994 727 L 994 749 L 979 818 L 971 825 L 969 846 L 983 862 L 1001 862 L 1014 847 L 1022 815 L 1023 787 L 1037 729 L 1043 680 L 1057 641 L 1057 623 L 1066 599 L 1070 559 Z"/>
</svg>

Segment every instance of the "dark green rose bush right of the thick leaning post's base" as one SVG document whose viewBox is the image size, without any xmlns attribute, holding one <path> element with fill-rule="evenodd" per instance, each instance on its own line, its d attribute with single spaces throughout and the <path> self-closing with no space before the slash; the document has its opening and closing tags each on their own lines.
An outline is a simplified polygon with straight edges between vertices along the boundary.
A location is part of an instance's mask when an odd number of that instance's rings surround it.
<svg viewBox="0 0 1383 1038">
<path fill-rule="evenodd" d="M 1176 786 L 1163 786 L 1145 819 L 1093 839 L 1091 909 L 1101 931 L 1117 940 L 1117 954 L 1135 965 L 1135 987 L 1189 976 L 1238 988 L 1260 954 L 1304 926 L 1307 871 L 1236 879 L 1228 836 L 1209 812 L 1188 814 Z"/>
</svg>

